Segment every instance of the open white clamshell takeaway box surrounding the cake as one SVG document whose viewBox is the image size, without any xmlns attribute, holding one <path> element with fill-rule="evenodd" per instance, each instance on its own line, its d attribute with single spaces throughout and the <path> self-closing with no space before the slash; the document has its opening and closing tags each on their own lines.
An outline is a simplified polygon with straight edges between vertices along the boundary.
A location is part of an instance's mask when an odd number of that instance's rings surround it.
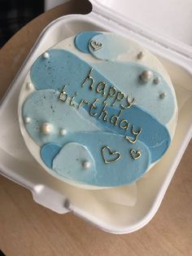
<svg viewBox="0 0 192 256">
<path fill-rule="evenodd" d="M 150 0 L 147 5 L 142 0 L 91 2 L 93 11 L 89 15 L 63 16 L 42 31 L 3 98 L 0 108 L 0 173 L 28 188 L 34 201 L 59 214 L 72 211 L 107 232 L 128 233 L 143 227 L 155 215 L 192 135 L 192 4 L 190 0 L 183 3 L 169 0 L 165 9 L 164 3 L 157 0 Z M 181 10 L 185 10 L 185 15 L 178 22 Z M 85 30 L 113 31 L 142 43 L 168 69 L 176 90 L 179 108 L 176 134 L 162 160 L 146 174 L 146 178 L 137 181 L 137 203 L 134 206 L 99 201 L 93 192 L 55 179 L 30 155 L 20 135 L 18 96 L 29 68 L 47 48 Z"/>
</svg>

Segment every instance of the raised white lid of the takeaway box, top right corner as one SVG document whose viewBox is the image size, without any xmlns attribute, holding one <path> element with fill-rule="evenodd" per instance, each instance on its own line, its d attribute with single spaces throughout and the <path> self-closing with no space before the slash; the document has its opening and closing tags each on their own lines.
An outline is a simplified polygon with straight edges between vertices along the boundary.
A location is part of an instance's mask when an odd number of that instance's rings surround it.
<svg viewBox="0 0 192 256">
<path fill-rule="evenodd" d="M 192 58 L 191 0 L 90 0 L 93 11 Z"/>
</svg>

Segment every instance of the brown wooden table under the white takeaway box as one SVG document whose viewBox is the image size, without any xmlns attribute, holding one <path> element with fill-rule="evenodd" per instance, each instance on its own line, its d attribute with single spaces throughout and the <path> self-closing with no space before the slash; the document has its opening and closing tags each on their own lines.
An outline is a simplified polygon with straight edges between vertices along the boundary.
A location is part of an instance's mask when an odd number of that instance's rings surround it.
<svg viewBox="0 0 192 256">
<path fill-rule="evenodd" d="M 37 17 L 0 50 L 1 95 L 7 90 L 51 20 L 87 13 L 88 2 L 68 2 Z M 0 177 L 0 249 L 28 255 L 192 255 L 192 143 L 188 146 L 155 218 L 127 235 L 112 235 L 73 214 L 55 214 L 33 201 L 31 193 Z"/>
</svg>

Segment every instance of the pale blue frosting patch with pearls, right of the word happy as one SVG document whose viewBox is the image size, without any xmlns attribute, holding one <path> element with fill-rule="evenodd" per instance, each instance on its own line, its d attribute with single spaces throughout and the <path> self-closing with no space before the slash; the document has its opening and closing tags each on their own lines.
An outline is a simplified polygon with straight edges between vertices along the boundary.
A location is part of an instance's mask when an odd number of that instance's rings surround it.
<svg viewBox="0 0 192 256">
<path fill-rule="evenodd" d="M 129 94 L 131 98 L 136 99 L 136 104 L 153 113 L 162 124 L 168 123 L 174 113 L 175 103 L 172 95 L 172 90 L 168 83 L 159 73 L 153 71 L 154 77 L 159 77 L 161 82 L 155 85 L 153 80 L 146 84 L 138 79 L 139 74 L 146 67 L 139 65 L 140 68 L 135 68 L 136 64 L 127 62 L 112 62 L 92 63 L 93 67 L 102 72 L 105 77 L 110 79 L 111 83 L 115 84 L 124 94 Z M 138 64 L 137 64 L 138 65 Z M 165 92 L 164 99 L 159 98 L 159 94 Z"/>
</svg>

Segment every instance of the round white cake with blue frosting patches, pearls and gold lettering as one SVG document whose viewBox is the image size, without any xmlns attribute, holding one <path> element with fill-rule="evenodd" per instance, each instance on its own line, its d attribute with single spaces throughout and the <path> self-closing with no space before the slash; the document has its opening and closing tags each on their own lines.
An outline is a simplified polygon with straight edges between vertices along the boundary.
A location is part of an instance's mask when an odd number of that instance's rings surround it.
<svg viewBox="0 0 192 256">
<path fill-rule="evenodd" d="M 67 38 L 34 62 L 20 130 L 44 170 L 81 188 L 140 179 L 172 141 L 177 99 L 155 55 L 115 33 Z"/>
</svg>

